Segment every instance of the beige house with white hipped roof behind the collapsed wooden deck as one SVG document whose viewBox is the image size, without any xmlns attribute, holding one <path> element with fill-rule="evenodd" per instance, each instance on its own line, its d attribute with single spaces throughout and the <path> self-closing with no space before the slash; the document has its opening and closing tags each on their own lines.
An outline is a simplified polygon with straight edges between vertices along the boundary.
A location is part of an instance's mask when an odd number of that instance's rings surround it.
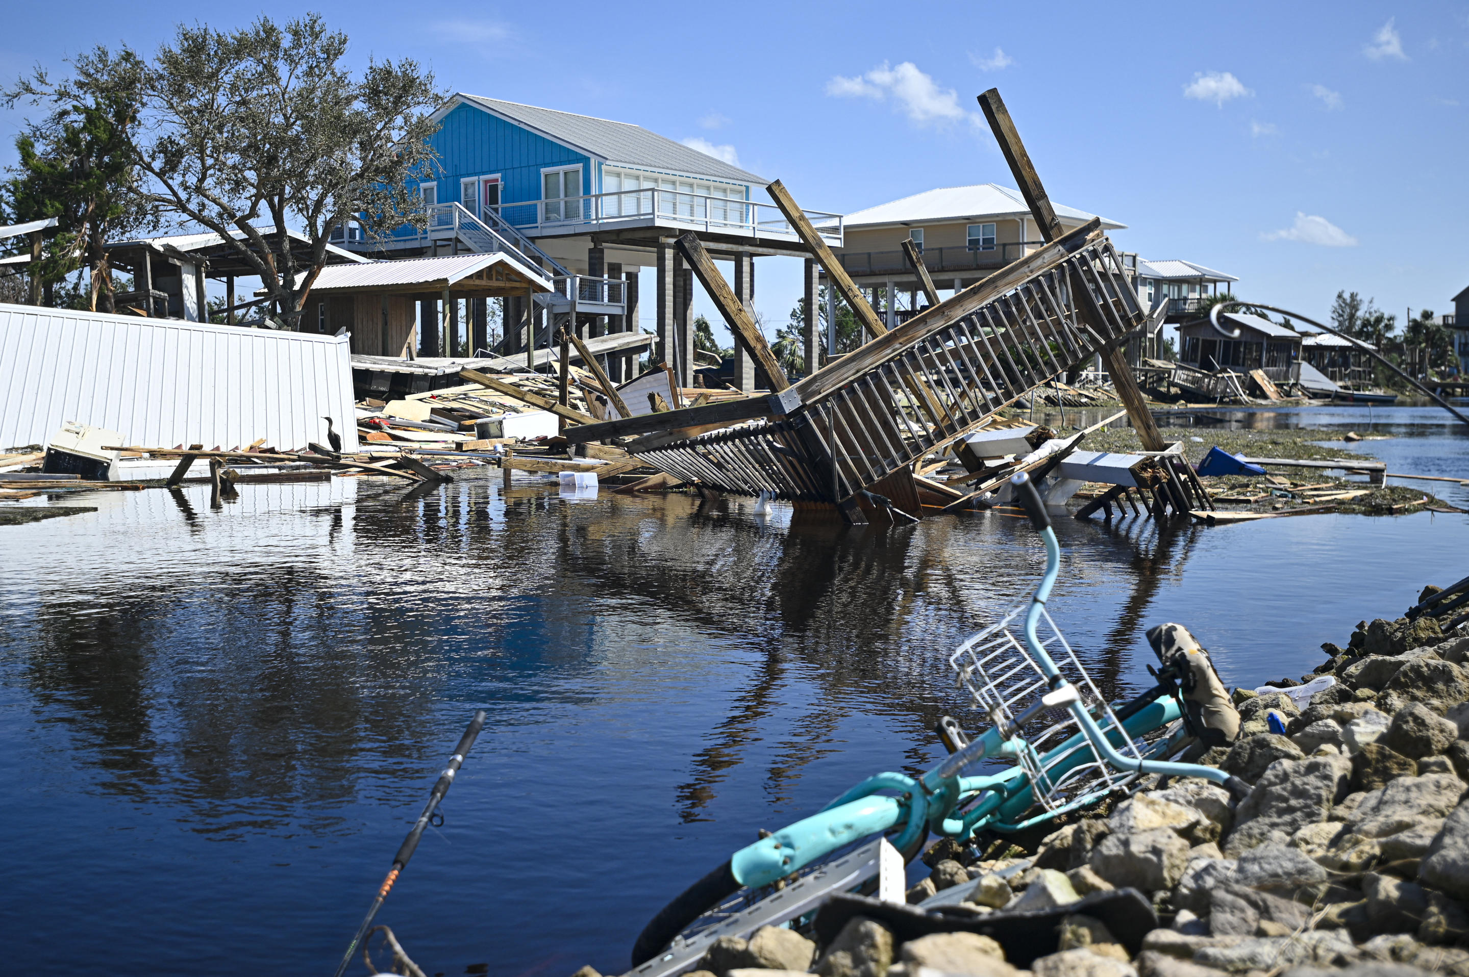
<svg viewBox="0 0 1469 977">
<path fill-rule="evenodd" d="M 1053 204 L 1065 230 L 1094 217 Z M 1108 230 L 1127 224 L 1102 219 Z M 939 289 L 964 289 L 1044 244 L 1021 192 L 999 183 L 942 186 L 848 214 L 843 241 L 833 248 L 858 288 L 871 292 L 889 327 L 917 308 L 918 279 L 902 242 L 912 238 Z M 826 276 L 823 274 L 823 282 Z M 908 296 L 906 302 L 889 296 Z M 906 304 L 906 310 L 899 308 Z"/>
</svg>

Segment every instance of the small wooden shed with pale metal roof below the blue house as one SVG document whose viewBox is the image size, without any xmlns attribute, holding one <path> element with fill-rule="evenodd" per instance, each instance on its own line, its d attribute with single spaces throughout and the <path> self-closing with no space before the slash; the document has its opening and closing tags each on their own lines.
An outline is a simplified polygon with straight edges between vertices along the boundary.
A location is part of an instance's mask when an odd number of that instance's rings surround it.
<svg viewBox="0 0 1469 977">
<path fill-rule="evenodd" d="M 442 258 L 369 261 L 322 268 L 308 307 L 316 308 L 322 332 L 351 333 L 354 354 L 410 358 L 416 348 L 423 310 L 438 310 L 438 321 L 425 329 L 444 330 L 452 302 L 476 298 L 524 298 L 551 292 L 551 279 L 516 255 L 502 251 Z"/>
</svg>

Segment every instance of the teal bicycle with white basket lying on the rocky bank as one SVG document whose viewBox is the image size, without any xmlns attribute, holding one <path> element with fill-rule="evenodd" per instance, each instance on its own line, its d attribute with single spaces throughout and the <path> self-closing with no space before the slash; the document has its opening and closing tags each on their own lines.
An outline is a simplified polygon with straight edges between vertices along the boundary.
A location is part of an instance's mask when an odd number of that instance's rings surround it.
<svg viewBox="0 0 1469 977">
<path fill-rule="evenodd" d="M 1050 516 L 1024 472 L 1011 484 L 1046 544 L 1046 572 L 1028 604 L 949 659 L 989 729 L 970 741 L 945 717 L 939 736 L 949 755 L 921 777 L 878 773 L 821 813 L 734 852 L 648 923 L 633 946 L 633 974 L 671 977 L 718 936 L 799 923 L 831 892 L 871 889 L 881 839 L 911 861 L 930 833 L 961 844 L 981 832 L 1012 835 L 1127 791 L 1144 775 L 1203 777 L 1235 797 L 1249 792 L 1215 767 L 1166 760 L 1208 735 L 1197 711 L 1185 709 L 1183 666 L 1150 667 L 1158 684 L 1116 709 L 1102 695 L 1046 613 L 1061 569 Z M 1014 766 L 964 775 L 981 760 Z"/>
</svg>

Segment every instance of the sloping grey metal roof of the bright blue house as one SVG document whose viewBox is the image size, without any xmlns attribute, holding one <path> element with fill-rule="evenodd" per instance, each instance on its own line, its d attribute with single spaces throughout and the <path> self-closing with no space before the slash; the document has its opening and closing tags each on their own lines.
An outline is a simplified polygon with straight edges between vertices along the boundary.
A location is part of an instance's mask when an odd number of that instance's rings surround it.
<svg viewBox="0 0 1469 977">
<path fill-rule="evenodd" d="M 497 116 L 502 116 L 527 129 L 539 132 L 551 139 L 580 150 L 588 155 L 598 157 L 607 163 L 627 163 L 629 166 L 646 166 L 655 170 L 673 173 L 687 173 L 690 176 L 710 176 L 721 180 L 736 180 L 765 186 L 770 183 L 762 176 L 755 176 L 749 170 L 742 170 L 724 160 L 718 160 L 705 153 L 699 153 L 682 142 L 674 142 L 657 132 L 649 132 L 630 122 L 613 122 L 611 119 L 596 119 L 595 116 L 577 116 L 570 111 L 555 109 L 539 109 L 523 106 L 499 98 L 485 98 L 458 92 L 435 117 L 442 119 L 458 101 L 477 106 Z"/>
</svg>

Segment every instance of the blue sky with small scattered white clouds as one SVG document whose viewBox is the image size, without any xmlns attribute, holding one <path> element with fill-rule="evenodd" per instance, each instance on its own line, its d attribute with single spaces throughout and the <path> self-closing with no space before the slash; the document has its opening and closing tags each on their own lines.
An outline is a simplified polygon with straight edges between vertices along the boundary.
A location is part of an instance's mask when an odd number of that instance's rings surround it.
<svg viewBox="0 0 1469 977">
<path fill-rule="evenodd" d="M 1050 197 L 1128 224 L 1121 249 L 1228 271 L 1241 296 L 1307 315 L 1353 289 L 1401 321 L 1469 286 L 1469 3 L 316 9 L 358 62 L 413 57 L 445 89 L 702 139 L 843 213 L 1012 185 L 974 101 L 997 85 Z M 0 75 L 93 44 L 153 50 L 182 10 L 24 4 Z M 0 113 L 6 163 L 18 123 Z M 798 295 L 799 263 L 757 263 L 767 323 Z"/>
</svg>

